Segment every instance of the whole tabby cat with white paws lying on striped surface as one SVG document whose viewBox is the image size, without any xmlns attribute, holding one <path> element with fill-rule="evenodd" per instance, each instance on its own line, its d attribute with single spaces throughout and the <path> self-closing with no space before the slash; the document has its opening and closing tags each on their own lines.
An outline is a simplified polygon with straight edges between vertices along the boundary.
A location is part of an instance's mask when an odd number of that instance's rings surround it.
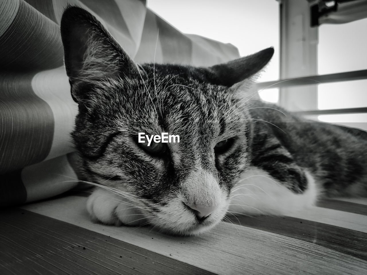
<svg viewBox="0 0 367 275">
<path fill-rule="evenodd" d="M 366 196 L 366 132 L 259 100 L 254 83 L 273 48 L 211 67 L 138 65 L 70 6 L 61 36 L 79 168 L 100 186 L 92 219 L 195 235 L 226 213 L 287 215 L 321 197 Z M 139 132 L 180 142 L 148 146 Z"/>
</svg>

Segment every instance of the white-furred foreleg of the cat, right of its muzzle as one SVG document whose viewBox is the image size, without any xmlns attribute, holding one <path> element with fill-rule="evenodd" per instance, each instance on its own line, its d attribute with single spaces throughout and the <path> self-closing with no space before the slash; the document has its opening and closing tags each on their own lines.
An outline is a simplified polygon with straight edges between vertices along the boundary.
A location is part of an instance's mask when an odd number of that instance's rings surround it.
<svg viewBox="0 0 367 275">
<path fill-rule="evenodd" d="M 282 182 L 264 169 L 249 168 L 232 189 L 229 212 L 250 216 L 287 216 L 309 208 L 316 202 L 317 185 L 307 170 L 300 168 L 299 173 L 305 177 L 303 184 L 306 187 L 295 191 L 290 188 L 294 183 Z M 291 176 L 288 180 L 299 178 Z"/>
</svg>

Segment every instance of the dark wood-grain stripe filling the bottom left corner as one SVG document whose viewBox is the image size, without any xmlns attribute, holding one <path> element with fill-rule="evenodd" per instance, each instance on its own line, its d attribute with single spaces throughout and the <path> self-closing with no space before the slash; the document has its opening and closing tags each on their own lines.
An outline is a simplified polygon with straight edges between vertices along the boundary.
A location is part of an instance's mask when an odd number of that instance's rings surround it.
<svg viewBox="0 0 367 275">
<path fill-rule="evenodd" d="M 0 213 L 0 274 L 213 274 L 22 209 Z"/>
</svg>

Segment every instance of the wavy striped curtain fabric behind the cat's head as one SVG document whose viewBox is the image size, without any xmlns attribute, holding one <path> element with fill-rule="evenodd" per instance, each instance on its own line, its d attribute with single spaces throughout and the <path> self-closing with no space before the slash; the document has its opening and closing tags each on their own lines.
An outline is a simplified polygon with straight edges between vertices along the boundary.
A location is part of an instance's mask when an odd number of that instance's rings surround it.
<svg viewBox="0 0 367 275">
<path fill-rule="evenodd" d="M 209 66 L 237 48 L 183 34 L 143 0 L 0 0 L 0 205 L 50 198 L 78 185 L 70 139 L 77 105 L 59 30 L 67 4 L 99 19 L 138 63 Z"/>
</svg>

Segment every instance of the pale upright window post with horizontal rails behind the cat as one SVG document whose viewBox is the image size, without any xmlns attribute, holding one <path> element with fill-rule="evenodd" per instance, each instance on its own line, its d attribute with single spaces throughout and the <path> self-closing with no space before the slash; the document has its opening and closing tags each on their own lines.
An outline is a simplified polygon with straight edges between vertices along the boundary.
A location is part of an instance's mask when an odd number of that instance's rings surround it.
<svg viewBox="0 0 367 275">
<path fill-rule="evenodd" d="M 279 105 L 301 115 L 367 113 L 367 106 L 318 109 L 318 84 L 367 79 L 367 69 L 317 74 L 318 27 L 310 24 L 311 3 L 306 0 L 278 1 L 280 80 L 258 83 L 257 88 L 279 88 Z"/>
</svg>

